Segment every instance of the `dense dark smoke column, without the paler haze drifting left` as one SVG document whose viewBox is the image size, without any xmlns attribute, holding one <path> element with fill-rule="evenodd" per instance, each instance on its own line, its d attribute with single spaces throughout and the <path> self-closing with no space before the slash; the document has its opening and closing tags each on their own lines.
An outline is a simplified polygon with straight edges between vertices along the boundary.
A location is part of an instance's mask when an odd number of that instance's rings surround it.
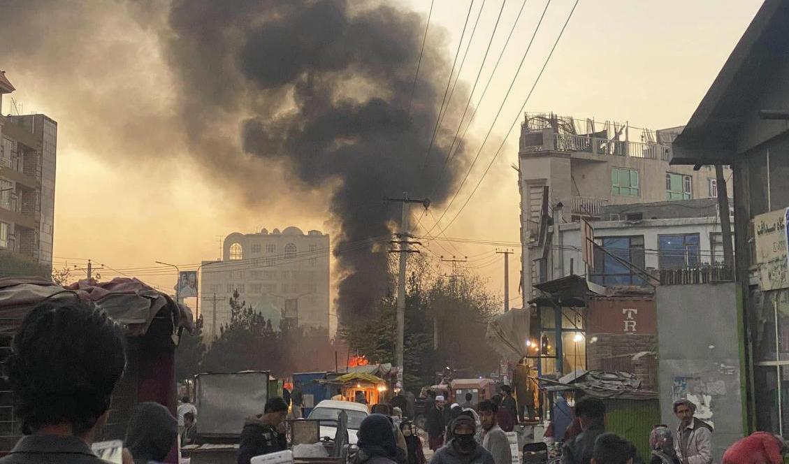
<svg viewBox="0 0 789 464">
<path fill-rule="evenodd" d="M 387 247 L 364 243 L 387 236 L 399 221 L 399 204 L 383 198 L 407 192 L 440 203 L 454 183 L 453 166 L 464 159 L 458 152 L 441 175 L 447 143 L 439 137 L 424 161 L 449 73 L 441 54 L 425 51 L 409 105 L 424 19 L 360 3 L 197 2 L 196 8 L 189 1 L 170 13 L 170 52 L 185 82 L 193 138 L 204 143 L 207 108 L 240 104 L 252 110 L 242 123 L 245 152 L 260 163 L 284 163 L 314 188 L 331 188 L 343 322 L 363 315 L 387 291 Z M 233 66 L 240 76 L 226 80 L 224 69 Z M 446 119 L 456 124 L 454 109 Z"/>
</svg>

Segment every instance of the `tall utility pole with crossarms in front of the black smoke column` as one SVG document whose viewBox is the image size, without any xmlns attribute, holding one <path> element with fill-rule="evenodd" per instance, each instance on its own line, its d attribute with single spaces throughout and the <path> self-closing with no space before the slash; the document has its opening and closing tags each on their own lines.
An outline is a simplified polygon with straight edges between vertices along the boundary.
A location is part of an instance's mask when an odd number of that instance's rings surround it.
<svg viewBox="0 0 789 464">
<path fill-rule="evenodd" d="M 400 267 L 398 270 L 397 287 L 397 340 L 394 346 L 394 360 L 397 363 L 397 387 L 402 388 L 402 366 L 403 350 L 405 347 L 406 332 L 406 263 L 408 253 L 419 253 L 418 250 L 409 249 L 409 245 L 421 245 L 417 241 L 409 241 L 409 207 L 412 203 L 421 203 L 425 209 L 430 207 L 430 200 L 424 198 L 416 200 L 408 197 L 408 193 L 403 193 L 402 198 L 387 198 L 387 201 L 398 202 L 402 205 L 400 219 L 400 233 L 396 234 L 397 240 L 392 241 L 398 245 L 398 249 L 390 250 L 389 253 L 400 253 Z"/>
</svg>

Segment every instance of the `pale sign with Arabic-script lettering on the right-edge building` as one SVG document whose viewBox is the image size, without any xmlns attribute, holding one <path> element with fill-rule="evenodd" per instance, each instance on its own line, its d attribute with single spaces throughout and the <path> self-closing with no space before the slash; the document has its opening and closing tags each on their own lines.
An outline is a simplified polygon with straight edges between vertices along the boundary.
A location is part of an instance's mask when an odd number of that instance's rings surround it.
<svg viewBox="0 0 789 464">
<path fill-rule="evenodd" d="M 789 214 L 789 208 L 770 211 L 753 218 L 755 257 L 759 268 L 761 290 L 789 287 L 787 214 Z"/>
</svg>

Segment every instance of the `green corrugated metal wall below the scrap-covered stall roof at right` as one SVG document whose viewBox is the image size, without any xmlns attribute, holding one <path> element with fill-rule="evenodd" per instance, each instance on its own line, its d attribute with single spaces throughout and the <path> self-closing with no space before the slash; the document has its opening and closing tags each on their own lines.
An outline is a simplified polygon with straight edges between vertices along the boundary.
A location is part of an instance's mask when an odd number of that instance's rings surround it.
<svg viewBox="0 0 789 464">
<path fill-rule="evenodd" d="M 649 462 L 649 432 L 660 424 L 660 404 L 657 399 L 604 400 L 606 406 L 606 432 L 615 433 L 630 440 L 641 453 L 641 458 Z"/>
</svg>

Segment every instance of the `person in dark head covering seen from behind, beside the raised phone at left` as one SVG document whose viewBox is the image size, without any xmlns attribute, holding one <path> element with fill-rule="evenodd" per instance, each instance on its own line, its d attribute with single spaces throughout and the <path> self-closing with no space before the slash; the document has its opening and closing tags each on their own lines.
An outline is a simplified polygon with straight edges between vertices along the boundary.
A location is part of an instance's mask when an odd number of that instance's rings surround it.
<svg viewBox="0 0 789 464">
<path fill-rule="evenodd" d="M 178 437 L 178 420 L 157 402 L 137 406 L 126 429 L 125 445 L 134 464 L 164 462 Z"/>
</svg>

